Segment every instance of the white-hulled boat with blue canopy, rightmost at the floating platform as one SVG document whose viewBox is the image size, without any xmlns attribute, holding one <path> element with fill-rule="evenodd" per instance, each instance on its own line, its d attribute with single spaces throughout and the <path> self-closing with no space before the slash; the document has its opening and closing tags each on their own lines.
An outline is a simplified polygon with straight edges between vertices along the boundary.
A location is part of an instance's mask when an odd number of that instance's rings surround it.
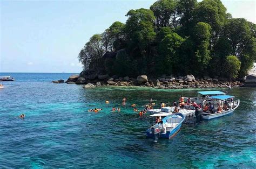
<svg viewBox="0 0 256 169">
<path fill-rule="evenodd" d="M 227 110 L 223 110 L 223 111 L 220 111 L 220 112 L 217 112 L 214 114 L 203 112 L 203 119 L 207 119 L 207 120 L 213 119 L 213 118 L 218 118 L 218 117 L 225 116 L 225 115 L 229 115 L 232 112 L 234 112 L 234 110 L 237 109 L 240 104 L 240 100 L 233 101 L 234 96 L 230 96 L 230 95 L 217 95 L 217 96 L 211 96 L 209 98 L 214 100 L 215 103 L 216 102 L 220 103 L 220 102 L 226 101 L 229 108 Z"/>
</svg>

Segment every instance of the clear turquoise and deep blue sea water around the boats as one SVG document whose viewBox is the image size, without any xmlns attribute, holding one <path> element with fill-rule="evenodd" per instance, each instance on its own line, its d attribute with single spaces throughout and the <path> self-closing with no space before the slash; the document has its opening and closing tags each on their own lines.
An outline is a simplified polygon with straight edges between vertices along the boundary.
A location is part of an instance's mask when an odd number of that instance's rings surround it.
<svg viewBox="0 0 256 169">
<path fill-rule="evenodd" d="M 159 104 L 196 90 L 84 89 L 50 83 L 70 74 L 1 75 L 16 78 L 0 89 L 1 168 L 256 167 L 256 89 L 227 90 L 241 100 L 234 114 L 200 123 L 187 119 L 176 137 L 154 143 L 145 137 L 146 119 L 129 105 L 143 108 L 151 97 Z M 95 107 L 103 111 L 87 111 Z M 26 117 L 18 118 L 22 113 Z"/>
</svg>

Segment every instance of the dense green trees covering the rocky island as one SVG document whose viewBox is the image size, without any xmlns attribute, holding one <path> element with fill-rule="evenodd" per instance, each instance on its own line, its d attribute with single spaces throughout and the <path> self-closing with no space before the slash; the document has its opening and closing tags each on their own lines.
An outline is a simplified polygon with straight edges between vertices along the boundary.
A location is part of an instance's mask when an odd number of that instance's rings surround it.
<svg viewBox="0 0 256 169">
<path fill-rule="evenodd" d="M 256 25 L 232 18 L 220 0 L 159 0 L 130 10 L 79 53 L 85 70 L 241 78 L 256 60 Z"/>
</svg>

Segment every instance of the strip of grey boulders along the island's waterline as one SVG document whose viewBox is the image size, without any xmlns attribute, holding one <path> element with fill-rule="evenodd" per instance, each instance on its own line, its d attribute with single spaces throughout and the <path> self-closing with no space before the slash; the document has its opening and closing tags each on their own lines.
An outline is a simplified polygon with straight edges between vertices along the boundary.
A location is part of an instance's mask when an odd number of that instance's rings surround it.
<svg viewBox="0 0 256 169">
<path fill-rule="evenodd" d="M 63 83 L 64 80 L 52 81 L 53 83 Z M 72 75 L 65 81 L 68 84 L 85 85 L 84 88 L 95 88 L 99 86 L 140 86 L 153 87 L 159 89 L 183 89 L 183 88 L 232 88 L 244 85 L 241 81 L 228 81 L 227 79 L 211 79 L 205 77 L 202 79 L 194 78 L 193 75 L 187 76 L 161 76 L 160 78 L 148 78 L 146 75 L 140 75 L 137 79 L 109 75 L 88 76 Z"/>
</svg>

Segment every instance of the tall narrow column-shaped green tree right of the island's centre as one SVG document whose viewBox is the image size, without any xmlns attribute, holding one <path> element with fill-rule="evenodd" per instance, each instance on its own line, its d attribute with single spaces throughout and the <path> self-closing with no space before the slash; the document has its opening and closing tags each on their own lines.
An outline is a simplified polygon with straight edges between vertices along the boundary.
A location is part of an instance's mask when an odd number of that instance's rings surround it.
<svg viewBox="0 0 256 169">
<path fill-rule="evenodd" d="M 199 22 L 194 28 L 194 44 L 196 46 L 196 52 L 194 55 L 193 68 L 194 74 L 200 75 L 200 73 L 206 71 L 206 67 L 211 59 L 210 56 L 210 38 L 211 38 L 211 26 L 207 23 Z"/>
</svg>

